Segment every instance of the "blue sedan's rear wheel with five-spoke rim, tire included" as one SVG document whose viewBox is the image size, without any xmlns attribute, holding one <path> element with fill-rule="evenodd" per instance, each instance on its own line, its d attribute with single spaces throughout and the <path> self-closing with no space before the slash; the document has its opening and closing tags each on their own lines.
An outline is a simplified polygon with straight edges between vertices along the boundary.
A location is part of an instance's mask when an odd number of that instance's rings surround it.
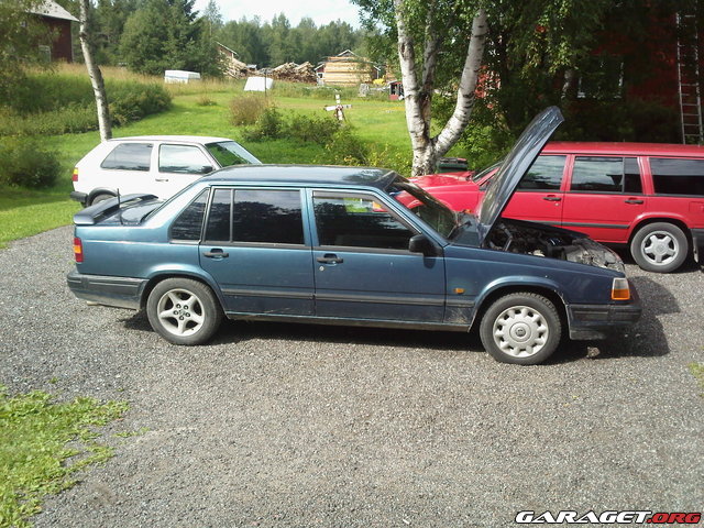
<svg viewBox="0 0 704 528">
<path fill-rule="evenodd" d="M 174 344 L 202 344 L 220 327 L 222 310 L 212 290 L 190 278 L 158 283 L 146 300 L 154 331 Z"/>
</svg>

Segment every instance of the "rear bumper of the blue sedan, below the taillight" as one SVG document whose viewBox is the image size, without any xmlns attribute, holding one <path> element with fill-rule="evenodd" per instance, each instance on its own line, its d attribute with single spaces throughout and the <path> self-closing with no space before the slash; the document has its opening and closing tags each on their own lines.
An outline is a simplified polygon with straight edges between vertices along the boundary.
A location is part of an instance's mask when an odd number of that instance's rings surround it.
<svg viewBox="0 0 704 528">
<path fill-rule="evenodd" d="M 72 272 L 66 277 L 68 288 L 79 299 L 117 308 L 140 309 L 145 278 L 109 277 L 105 275 L 84 275 Z"/>
</svg>

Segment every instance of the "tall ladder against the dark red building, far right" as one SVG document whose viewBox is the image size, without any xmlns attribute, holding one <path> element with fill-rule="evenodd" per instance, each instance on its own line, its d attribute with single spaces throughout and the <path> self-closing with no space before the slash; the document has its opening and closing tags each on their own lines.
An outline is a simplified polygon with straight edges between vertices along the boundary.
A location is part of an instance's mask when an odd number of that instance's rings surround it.
<svg viewBox="0 0 704 528">
<path fill-rule="evenodd" d="M 704 143 L 696 16 L 678 13 L 678 92 L 682 143 Z"/>
</svg>

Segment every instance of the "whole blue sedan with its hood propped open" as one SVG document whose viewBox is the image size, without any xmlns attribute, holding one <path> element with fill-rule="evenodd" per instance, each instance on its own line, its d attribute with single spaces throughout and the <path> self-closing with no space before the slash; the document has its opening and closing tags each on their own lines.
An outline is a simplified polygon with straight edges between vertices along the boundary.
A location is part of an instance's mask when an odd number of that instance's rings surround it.
<svg viewBox="0 0 704 528">
<path fill-rule="evenodd" d="M 468 332 L 498 361 L 537 364 L 563 337 L 640 317 L 614 252 L 505 219 L 522 174 L 562 121 L 538 116 L 476 213 L 457 213 L 380 168 L 243 165 L 166 202 L 130 195 L 74 217 L 81 299 L 145 309 L 156 332 L 201 344 L 221 319 Z M 413 207 L 407 207 L 413 206 Z"/>
</svg>

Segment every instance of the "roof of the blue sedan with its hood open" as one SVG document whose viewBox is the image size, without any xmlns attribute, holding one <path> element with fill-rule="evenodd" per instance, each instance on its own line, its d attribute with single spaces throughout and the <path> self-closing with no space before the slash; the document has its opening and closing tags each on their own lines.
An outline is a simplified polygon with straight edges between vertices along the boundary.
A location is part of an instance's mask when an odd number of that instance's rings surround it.
<svg viewBox="0 0 704 528">
<path fill-rule="evenodd" d="M 209 184 L 290 184 L 290 185 L 352 185 L 385 189 L 397 176 L 393 170 L 374 167 L 333 165 L 235 165 L 204 176 Z"/>
</svg>

